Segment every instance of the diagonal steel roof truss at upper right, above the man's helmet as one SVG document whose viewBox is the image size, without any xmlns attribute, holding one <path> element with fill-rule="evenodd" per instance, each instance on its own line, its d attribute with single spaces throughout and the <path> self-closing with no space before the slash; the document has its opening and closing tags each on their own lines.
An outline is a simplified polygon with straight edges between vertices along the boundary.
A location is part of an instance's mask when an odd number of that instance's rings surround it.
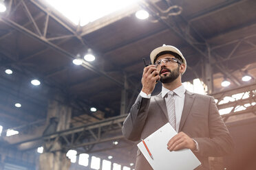
<svg viewBox="0 0 256 170">
<path fill-rule="evenodd" d="M 171 1 L 165 1 L 165 2 L 169 6 L 175 5 L 175 4 L 172 4 Z M 219 69 L 219 71 L 224 76 L 229 77 L 234 84 L 236 84 L 237 86 L 240 86 L 241 85 L 240 80 L 238 80 L 237 77 L 235 77 L 232 74 L 232 71 L 226 69 L 226 67 L 224 66 L 224 62 L 226 62 L 227 60 L 232 60 L 233 58 L 242 57 L 241 55 L 240 56 L 233 55 L 235 53 L 237 47 L 239 47 L 241 42 L 239 44 L 235 45 L 234 49 L 231 51 L 231 53 L 228 55 L 228 57 L 221 56 L 220 54 L 216 53 L 216 51 L 214 50 L 217 47 L 212 47 L 212 45 L 210 45 L 209 42 L 202 35 L 200 35 L 200 33 L 198 33 L 197 30 L 195 30 L 193 28 L 193 26 L 191 25 L 191 22 L 195 21 L 196 19 L 199 19 L 200 17 L 206 16 L 208 14 L 213 14 L 213 12 L 217 12 L 219 10 L 223 10 L 225 8 L 231 7 L 232 5 L 237 5 L 237 4 L 243 3 L 243 2 L 244 1 L 234 0 L 231 3 L 220 4 L 208 13 L 203 12 L 203 14 L 199 14 L 198 16 L 193 16 L 193 18 L 191 18 L 190 21 L 186 21 L 186 19 L 184 19 L 181 15 L 178 15 L 178 17 L 180 17 L 180 19 L 183 21 L 182 25 L 185 25 L 185 26 L 175 23 L 175 20 L 173 22 L 169 22 L 169 20 L 163 19 L 161 17 L 162 10 L 160 9 L 160 7 L 158 7 L 158 5 L 156 5 L 156 3 L 152 3 L 151 1 L 144 0 L 142 3 L 140 3 L 140 5 L 142 6 L 142 8 L 145 8 L 146 10 L 148 10 L 150 12 L 151 16 L 153 16 L 155 19 L 157 19 L 158 22 L 163 23 L 164 25 L 167 25 L 167 27 L 169 27 L 169 29 L 173 33 L 175 33 L 177 36 L 182 38 L 182 40 L 185 40 L 188 43 L 188 45 L 190 45 L 193 49 L 195 49 L 195 51 L 198 51 L 198 53 L 200 53 L 200 55 L 202 56 L 202 59 L 204 59 L 203 60 L 204 63 L 209 63 L 210 66 L 213 66 L 213 65 L 216 66 L 217 69 Z M 247 27 L 250 27 L 250 26 L 252 26 L 252 25 L 247 25 Z M 237 29 L 239 29 L 239 28 L 237 28 Z M 191 33 L 193 33 L 194 36 Z M 194 38 L 195 36 L 197 36 L 198 38 Z M 253 35 L 253 36 L 255 36 L 255 35 Z M 252 37 L 252 36 L 250 36 L 250 37 Z M 250 47 L 253 47 L 254 49 L 250 50 L 250 51 L 244 51 L 245 53 L 252 52 L 252 51 L 255 52 L 255 49 L 256 49 L 255 48 L 256 45 L 253 42 L 250 42 L 248 40 L 248 38 L 250 38 L 250 37 L 247 37 L 246 39 L 244 39 L 244 42 L 246 42 L 247 45 L 249 45 Z M 235 40 L 235 42 L 237 42 L 237 41 L 241 41 L 241 40 Z M 235 43 L 235 42 L 229 42 L 229 43 Z M 225 46 L 225 44 L 220 45 L 220 47 L 224 47 L 224 46 Z M 215 64 L 215 63 L 217 63 L 217 64 Z"/>
</svg>

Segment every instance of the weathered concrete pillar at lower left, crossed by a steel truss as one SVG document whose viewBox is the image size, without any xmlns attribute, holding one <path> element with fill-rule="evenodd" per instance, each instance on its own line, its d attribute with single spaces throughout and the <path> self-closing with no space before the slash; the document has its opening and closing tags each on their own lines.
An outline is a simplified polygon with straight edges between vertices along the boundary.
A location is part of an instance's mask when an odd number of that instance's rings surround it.
<svg viewBox="0 0 256 170">
<path fill-rule="evenodd" d="M 52 134 L 70 128 L 72 109 L 65 105 L 60 96 L 50 99 L 47 110 L 47 127 L 43 135 Z M 69 170 L 70 159 L 62 151 L 62 143 L 58 140 L 47 140 L 44 143 L 44 153 L 39 157 L 40 170 Z M 57 151 L 56 151 L 57 150 Z"/>
</svg>

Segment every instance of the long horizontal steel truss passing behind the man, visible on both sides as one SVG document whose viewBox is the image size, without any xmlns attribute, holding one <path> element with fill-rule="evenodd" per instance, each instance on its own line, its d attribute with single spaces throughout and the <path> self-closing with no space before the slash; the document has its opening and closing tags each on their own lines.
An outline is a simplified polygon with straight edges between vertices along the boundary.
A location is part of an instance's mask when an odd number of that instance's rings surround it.
<svg viewBox="0 0 256 170">
<path fill-rule="evenodd" d="M 238 93 L 243 93 L 241 99 L 235 99 L 234 95 Z M 241 114 L 253 114 L 254 117 L 256 117 L 256 104 L 253 105 L 253 102 L 256 103 L 256 84 L 226 90 L 222 93 L 216 93 L 213 95 L 213 97 L 217 99 L 217 108 L 219 110 L 233 107 L 233 110 L 229 114 L 222 115 L 224 121 L 227 121 L 229 117 Z M 235 100 L 221 104 L 221 101 L 224 99 L 224 97 L 231 97 Z M 246 104 L 250 104 L 250 106 L 246 106 Z M 236 111 L 235 108 L 238 106 L 246 106 L 246 109 Z M 112 117 L 95 123 L 88 123 L 87 125 L 80 127 L 73 127 L 68 130 L 54 132 L 52 134 L 47 134 L 38 138 L 32 138 L 26 141 L 21 141 L 19 143 L 13 143 L 12 145 L 8 146 L 13 147 L 22 143 L 39 140 L 55 142 L 61 141 L 63 149 L 82 149 L 83 151 L 90 152 L 92 151 L 94 145 L 122 139 L 123 136 L 120 132 L 122 123 L 125 121 L 126 117 L 127 114 L 123 114 L 118 117 Z M 123 147 L 127 147 L 127 145 Z M 115 147 L 109 147 L 105 148 L 104 150 L 114 148 Z"/>
</svg>

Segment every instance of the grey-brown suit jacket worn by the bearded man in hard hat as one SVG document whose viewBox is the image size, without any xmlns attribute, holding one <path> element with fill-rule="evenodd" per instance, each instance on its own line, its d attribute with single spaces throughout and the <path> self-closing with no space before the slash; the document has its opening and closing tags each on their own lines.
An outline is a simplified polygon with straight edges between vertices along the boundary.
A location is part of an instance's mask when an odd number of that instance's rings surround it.
<svg viewBox="0 0 256 170">
<path fill-rule="evenodd" d="M 139 95 L 123 123 L 122 134 L 131 141 L 147 138 L 168 122 L 165 115 L 167 115 L 167 106 L 161 93 L 150 99 Z M 186 133 L 198 142 L 199 151 L 194 152 L 202 162 L 202 166 L 198 169 L 209 169 L 209 156 L 224 156 L 233 150 L 233 140 L 222 121 L 213 97 L 185 92 L 179 132 Z M 138 150 L 136 170 L 149 169 L 152 169 L 151 166 Z"/>
</svg>

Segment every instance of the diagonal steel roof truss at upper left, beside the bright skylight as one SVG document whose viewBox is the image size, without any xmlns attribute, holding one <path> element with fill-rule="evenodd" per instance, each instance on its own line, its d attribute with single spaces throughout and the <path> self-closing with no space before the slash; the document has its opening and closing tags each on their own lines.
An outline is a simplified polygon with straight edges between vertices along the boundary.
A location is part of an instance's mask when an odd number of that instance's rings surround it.
<svg viewBox="0 0 256 170">
<path fill-rule="evenodd" d="M 65 49 L 61 48 L 59 45 L 61 45 L 63 42 L 66 42 L 67 40 L 70 40 L 70 38 L 77 38 L 81 44 L 83 44 L 83 46 L 87 49 L 92 49 L 91 45 L 88 45 L 87 42 L 85 42 L 85 40 L 82 38 L 81 34 L 83 34 L 83 32 L 79 32 L 78 29 L 74 29 L 74 27 L 71 27 L 70 25 L 64 23 L 61 19 L 59 19 L 56 15 L 54 15 L 53 12 L 51 12 L 49 9 L 43 8 L 43 6 L 34 0 L 20 0 L 20 1 L 16 1 L 13 0 L 13 3 L 9 4 L 9 9 L 8 9 L 8 13 L 3 15 L 0 19 L 0 21 L 2 21 L 3 23 L 6 23 L 6 25 L 9 25 L 10 27 L 14 28 L 13 30 L 10 30 L 10 32 L 8 32 L 7 34 L 3 35 L 0 37 L 0 39 L 2 38 L 6 38 L 6 36 L 9 36 L 10 34 L 12 34 L 14 32 L 14 30 L 17 30 L 18 32 L 22 32 L 36 40 L 39 40 L 40 42 L 43 42 L 47 48 L 43 49 L 41 51 L 38 51 L 30 56 L 26 56 L 25 58 L 23 58 L 22 60 L 17 60 L 15 58 L 12 57 L 12 55 L 8 54 L 7 56 L 10 58 L 10 60 L 12 60 L 12 63 L 15 64 L 19 64 L 21 62 L 23 62 L 24 60 L 28 60 L 30 58 L 33 58 L 45 51 L 47 51 L 48 49 L 54 49 L 56 51 L 58 51 L 59 53 L 62 53 L 63 56 L 70 58 L 71 60 L 73 60 L 74 58 L 76 58 L 76 54 L 70 53 L 69 51 L 65 51 Z M 16 2 L 16 3 L 14 3 Z M 32 5 L 36 6 L 36 8 L 39 8 L 40 10 L 43 11 L 43 14 L 40 13 L 36 16 L 32 16 L 28 3 L 32 3 Z M 12 14 L 15 14 L 15 12 L 17 11 L 18 8 L 23 8 L 23 10 L 25 11 L 25 14 L 27 14 L 29 22 L 26 23 L 18 23 L 17 21 L 14 21 L 12 19 L 10 19 L 12 16 Z M 36 23 L 37 20 L 45 18 L 45 23 L 43 25 L 43 27 L 39 27 L 39 25 Z M 57 23 L 59 23 L 61 26 L 63 26 L 65 29 L 67 29 L 67 31 L 69 32 L 67 35 L 62 35 L 62 36 L 56 36 L 56 37 L 47 37 L 47 32 L 48 32 L 48 27 L 49 27 L 49 21 L 50 19 L 54 19 L 54 21 L 56 21 Z M 34 29 L 28 29 L 27 26 L 32 24 Z M 57 44 L 54 44 L 53 40 L 61 40 L 60 42 L 58 42 Z M 4 51 L 4 50 L 2 50 Z M 103 54 L 97 53 L 98 56 L 103 56 Z M 5 64 L 10 64 L 10 63 L 5 63 Z M 85 69 L 88 69 L 90 71 L 93 71 L 94 73 L 97 73 L 99 75 L 102 75 L 103 77 L 106 77 L 107 79 L 111 80 L 112 82 L 114 82 L 117 86 L 124 88 L 125 92 L 127 91 L 127 82 L 125 82 L 125 80 L 117 80 L 115 77 L 109 75 L 109 73 L 105 72 L 105 71 L 100 71 L 98 68 L 95 68 L 95 66 L 93 66 L 92 64 L 90 64 L 89 62 L 86 62 L 83 60 L 83 67 L 85 67 Z M 116 67 L 118 68 L 118 66 Z M 67 69 L 67 67 L 63 68 L 62 70 Z M 60 71 L 60 70 L 58 70 Z M 27 71 L 29 72 L 29 71 Z M 55 73 L 57 71 L 54 71 Z M 124 73 L 124 71 L 119 71 Z M 42 80 L 45 80 L 45 78 L 43 77 L 50 77 L 52 76 L 54 73 L 48 73 L 47 75 L 42 75 L 40 77 L 42 77 Z M 37 76 L 39 77 L 39 76 Z M 56 85 L 56 84 L 54 84 Z M 132 84 L 131 84 L 132 85 Z M 59 86 L 58 84 L 56 86 Z M 125 102 L 125 101 L 124 101 Z M 123 102 L 123 103 L 124 103 Z M 126 104 L 125 104 L 126 106 Z M 84 110 L 83 107 L 81 107 L 82 110 Z M 122 109 L 124 110 L 124 109 Z M 87 110 L 85 110 L 87 111 Z M 94 117 L 93 115 L 90 115 L 92 117 Z M 98 119 L 97 117 L 94 117 L 96 119 Z"/>
</svg>

